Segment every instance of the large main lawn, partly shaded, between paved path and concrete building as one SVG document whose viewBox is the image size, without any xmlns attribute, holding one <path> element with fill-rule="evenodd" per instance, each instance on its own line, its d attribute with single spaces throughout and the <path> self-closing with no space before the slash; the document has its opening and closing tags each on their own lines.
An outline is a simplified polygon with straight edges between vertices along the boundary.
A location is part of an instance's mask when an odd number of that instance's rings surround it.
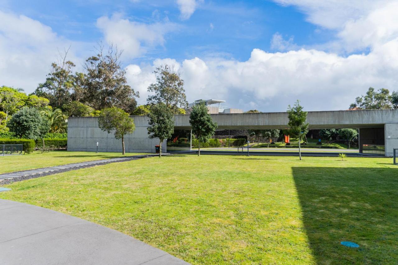
<svg viewBox="0 0 398 265">
<path fill-rule="evenodd" d="M 386 264 L 398 260 L 397 177 L 391 158 L 176 155 L 20 181 L 0 198 L 193 264 Z"/>
</svg>

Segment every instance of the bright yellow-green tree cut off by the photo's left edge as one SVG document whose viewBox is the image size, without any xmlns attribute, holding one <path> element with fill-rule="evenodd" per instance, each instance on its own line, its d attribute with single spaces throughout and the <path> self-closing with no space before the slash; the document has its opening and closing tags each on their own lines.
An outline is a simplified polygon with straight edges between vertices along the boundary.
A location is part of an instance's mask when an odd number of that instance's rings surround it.
<svg viewBox="0 0 398 265">
<path fill-rule="evenodd" d="M 2 86 L 0 88 L 0 110 L 6 113 L 5 121 L 8 117 L 20 110 L 27 100 L 27 95 L 15 88 Z"/>
</svg>

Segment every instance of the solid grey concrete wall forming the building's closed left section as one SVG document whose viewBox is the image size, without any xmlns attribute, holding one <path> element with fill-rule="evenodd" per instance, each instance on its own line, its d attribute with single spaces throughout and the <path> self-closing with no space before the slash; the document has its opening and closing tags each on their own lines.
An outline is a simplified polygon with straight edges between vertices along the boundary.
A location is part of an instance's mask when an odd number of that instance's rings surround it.
<svg viewBox="0 0 398 265">
<path fill-rule="evenodd" d="M 154 153 L 159 139 L 148 138 L 148 117 L 133 116 L 135 131 L 125 136 L 126 152 Z M 122 152 L 121 140 L 115 139 L 113 133 L 101 131 L 98 128 L 97 117 L 68 118 L 68 151 Z M 166 140 L 162 143 L 162 151 L 166 152 Z"/>
</svg>

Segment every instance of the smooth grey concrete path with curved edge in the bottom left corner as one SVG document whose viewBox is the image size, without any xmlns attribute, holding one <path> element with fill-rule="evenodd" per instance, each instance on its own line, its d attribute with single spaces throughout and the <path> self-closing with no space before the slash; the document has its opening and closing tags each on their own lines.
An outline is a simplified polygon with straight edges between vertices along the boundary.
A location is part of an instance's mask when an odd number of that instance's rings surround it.
<svg viewBox="0 0 398 265">
<path fill-rule="evenodd" d="M 188 264 L 130 236 L 53 210 L 0 199 L 0 264 Z"/>
</svg>

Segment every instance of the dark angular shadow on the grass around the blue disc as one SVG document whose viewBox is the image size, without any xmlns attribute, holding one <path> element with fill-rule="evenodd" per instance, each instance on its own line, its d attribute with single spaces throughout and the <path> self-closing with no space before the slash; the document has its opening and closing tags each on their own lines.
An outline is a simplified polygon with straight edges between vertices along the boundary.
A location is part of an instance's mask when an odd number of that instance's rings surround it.
<svg viewBox="0 0 398 265">
<path fill-rule="evenodd" d="M 398 169 L 293 167 L 317 264 L 398 260 Z M 359 244 L 359 249 L 341 246 Z"/>
</svg>

